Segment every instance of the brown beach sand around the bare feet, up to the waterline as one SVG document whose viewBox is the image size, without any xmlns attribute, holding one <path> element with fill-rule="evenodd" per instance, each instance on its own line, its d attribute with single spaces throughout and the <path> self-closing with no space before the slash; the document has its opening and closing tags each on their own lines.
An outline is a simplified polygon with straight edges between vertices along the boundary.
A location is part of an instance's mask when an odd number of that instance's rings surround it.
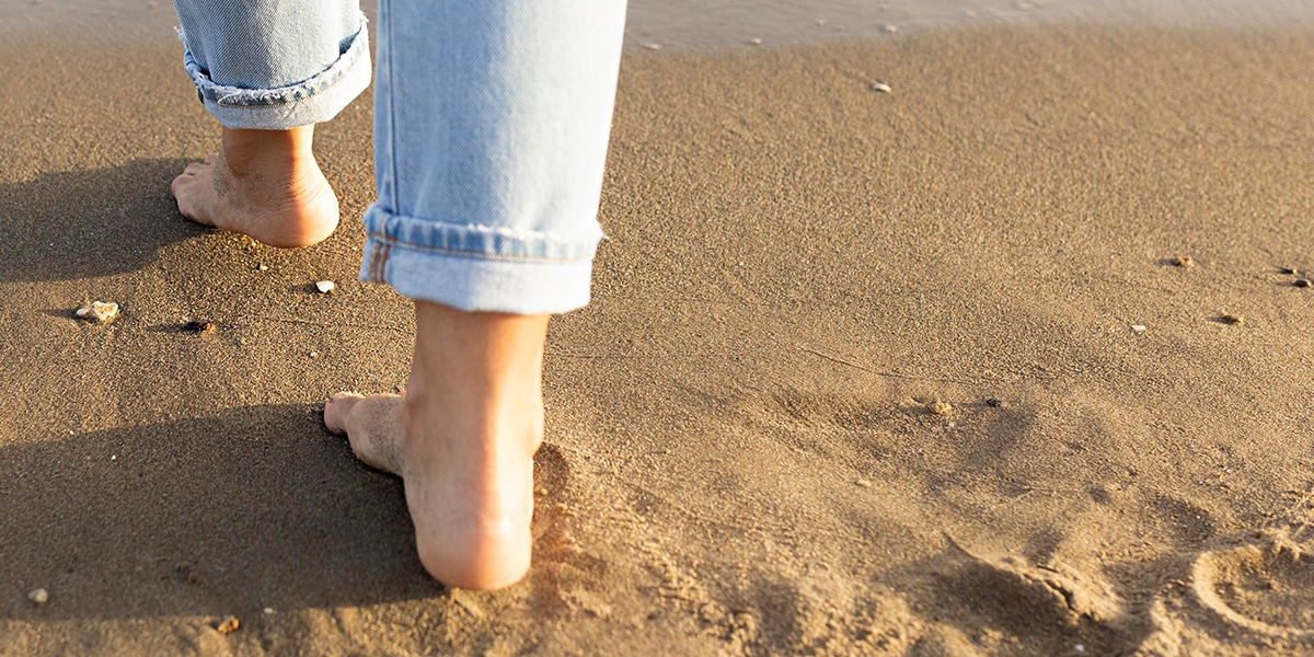
<svg viewBox="0 0 1314 657">
<path fill-rule="evenodd" d="M 0 45 L 0 653 L 1314 653 L 1310 33 L 627 57 L 493 594 L 319 423 L 406 376 L 360 226 L 183 221 L 179 46 L 88 43 Z M 344 217 L 369 121 L 319 130 Z"/>
</svg>

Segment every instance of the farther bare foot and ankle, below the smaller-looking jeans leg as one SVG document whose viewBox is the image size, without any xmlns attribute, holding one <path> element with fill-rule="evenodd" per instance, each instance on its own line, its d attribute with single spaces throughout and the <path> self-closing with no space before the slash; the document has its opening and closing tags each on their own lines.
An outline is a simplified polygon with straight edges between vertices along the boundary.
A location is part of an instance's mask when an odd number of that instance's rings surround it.
<svg viewBox="0 0 1314 657">
<path fill-rule="evenodd" d="M 310 150 L 314 127 L 225 127 L 219 152 L 173 179 L 177 210 L 275 247 L 322 242 L 338 227 L 338 197 Z"/>
</svg>

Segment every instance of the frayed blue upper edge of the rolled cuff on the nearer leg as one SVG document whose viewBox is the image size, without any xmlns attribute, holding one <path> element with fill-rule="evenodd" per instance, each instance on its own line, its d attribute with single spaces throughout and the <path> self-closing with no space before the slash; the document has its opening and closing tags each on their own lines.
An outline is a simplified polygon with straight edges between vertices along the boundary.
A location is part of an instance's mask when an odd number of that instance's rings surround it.
<svg viewBox="0 0 1314 657">
<path fill-rule="evenodd" d="M 451 254 L 490 260 L 590 261 L 602 238 L 602 229 L 597 222 L 591 222 L 593 230 L 589 235 L 569 238 L 476 223 L 420 219 L 393 214 L 378 204 L 365 210 L 363 221 L 372 240 L 435 255 Z"/>
</svg>

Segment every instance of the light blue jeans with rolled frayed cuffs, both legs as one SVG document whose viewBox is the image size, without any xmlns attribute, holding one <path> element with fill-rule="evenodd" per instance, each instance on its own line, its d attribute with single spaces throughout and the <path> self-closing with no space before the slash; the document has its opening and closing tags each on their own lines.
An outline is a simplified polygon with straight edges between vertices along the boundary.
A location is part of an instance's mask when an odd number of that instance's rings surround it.
<svg viewBox="0 0 1314 657">
<path fill-rule="evenodd" d="M 227 127 L 332 118 L 369 83 L 356 0 L 175 0 Z M 361 280 L 461 310 L 589 302 L 624 0 L 381 0 Z"/>
</svg>

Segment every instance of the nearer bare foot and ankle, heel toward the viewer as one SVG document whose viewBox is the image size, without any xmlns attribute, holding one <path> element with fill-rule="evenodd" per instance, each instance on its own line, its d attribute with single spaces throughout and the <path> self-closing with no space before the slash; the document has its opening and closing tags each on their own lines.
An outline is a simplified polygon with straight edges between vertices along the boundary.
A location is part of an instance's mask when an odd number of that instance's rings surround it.
<svg viewBox="0 0 1314 657">
<path fill-rule="evenodd" d="M 530 569 L 547 326 L 415 302 L 406 396 L 325 406 L 361 461 L 402 477 L 420 562 L 448 586 L 502 589 Z"/>
</svg>

